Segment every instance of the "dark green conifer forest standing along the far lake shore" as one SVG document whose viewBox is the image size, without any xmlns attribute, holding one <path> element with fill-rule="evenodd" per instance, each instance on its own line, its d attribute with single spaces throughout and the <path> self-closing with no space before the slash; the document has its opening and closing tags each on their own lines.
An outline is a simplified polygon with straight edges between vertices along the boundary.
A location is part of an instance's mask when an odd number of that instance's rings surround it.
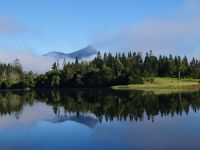
<svg viewBox="0 0 200 150">
<path fill-rule="evenodd" d="M 199 79 L 200 61 L 195 58 L 189 61 L 186 56 L 156 57 L 150 51 L 145 56 L 136 52 L 115 55 L 98 52 L 90 62 L 78 59 L 64 60 L 63 64 L 55 62 L 44 74 L 25 72 L 18 59 L 0 64 L 0 89 L 110 87 L 153 82 L 155 77 Z"/>
</svg>

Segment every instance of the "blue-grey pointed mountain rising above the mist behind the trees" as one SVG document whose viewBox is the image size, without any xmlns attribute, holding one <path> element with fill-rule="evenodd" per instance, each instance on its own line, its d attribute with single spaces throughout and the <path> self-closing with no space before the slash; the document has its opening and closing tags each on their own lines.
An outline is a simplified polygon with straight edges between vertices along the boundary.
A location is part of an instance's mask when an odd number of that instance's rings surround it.
<svg viewBox="0 0 200 150">
<path fill-rule="evenodd" d="M 96 54 L 97 54 L 97 50 L 92 45 L 88 45 L 87 47 L 83 49 L 80 49 L 78 51 L 75 51 L 69 54 L 52 51 L 50 53 L 44 54 L 43 56 L 53 57 L 55 59 L 64 59 L 64 58 L 83 59 L 83 58 L 90 57 Z"/>
</svg>

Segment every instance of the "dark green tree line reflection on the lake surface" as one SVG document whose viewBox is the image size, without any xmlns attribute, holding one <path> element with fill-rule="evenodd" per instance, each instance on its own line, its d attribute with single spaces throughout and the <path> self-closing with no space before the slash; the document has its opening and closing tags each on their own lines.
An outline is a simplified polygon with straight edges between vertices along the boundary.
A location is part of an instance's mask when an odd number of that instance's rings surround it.
<svg viewBox="0 0 200 150">
<path fill-rule="evenodd" d="M 60 109 L 66 112 L 92 113 L 101 122 L 117 119 L 142 121 L 144 117 L 154 121 L 157 115 L 174 116 L 188 114 L 200 108 L 200 92 L 172 95 L 155 95 L 152 92 L 97 90 L 38 90 L 38 91 L 1 91 L 0 115 L 15 115 L 20 118 L 24 105 L 42 102 L 52 106 L 55 114 Z"/>
</svg>

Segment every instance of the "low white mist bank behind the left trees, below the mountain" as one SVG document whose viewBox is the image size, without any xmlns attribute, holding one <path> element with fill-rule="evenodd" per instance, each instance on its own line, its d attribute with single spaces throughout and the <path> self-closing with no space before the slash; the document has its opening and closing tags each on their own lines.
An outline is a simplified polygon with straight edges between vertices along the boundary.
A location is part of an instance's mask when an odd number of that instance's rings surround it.
<svg viewBox="0 0 200 150">
<path fill-rule="evenodd" d="M 95 55 L 91 57 L 84 58 L 80 61 L 91 61 L 95 58 Z M 13 51 L 0 49 L 0 62 L 2 63 L 12 63 L 15 59 L 19 59 L 23 69 L 25 71 L 33 71 L 34 73 L 45 73 L 51 70 L 52 64 L 57 62 L 56 59 L 52 57 L 46 57 L 42 55 L 36 55 L 30 51 Z M 60 67 L 63 65 L 63 59 L 59 60 Z M 74 62 L 74 59 L 66 58 L 66 62 Z"/>
</svg>

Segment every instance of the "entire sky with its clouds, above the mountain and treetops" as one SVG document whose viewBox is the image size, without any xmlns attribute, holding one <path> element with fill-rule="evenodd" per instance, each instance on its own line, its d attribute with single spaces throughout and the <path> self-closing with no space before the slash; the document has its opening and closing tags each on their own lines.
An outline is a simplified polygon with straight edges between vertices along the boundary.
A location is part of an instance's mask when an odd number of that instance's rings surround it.
<svg viewBox="0 0 200 150">
<path fill-rule="evenodd" d="M 199 57 L 199 8 L 199 0 L 1 0 L 0 59 L 89 44 L 102 52 Z"/>
</svg>

